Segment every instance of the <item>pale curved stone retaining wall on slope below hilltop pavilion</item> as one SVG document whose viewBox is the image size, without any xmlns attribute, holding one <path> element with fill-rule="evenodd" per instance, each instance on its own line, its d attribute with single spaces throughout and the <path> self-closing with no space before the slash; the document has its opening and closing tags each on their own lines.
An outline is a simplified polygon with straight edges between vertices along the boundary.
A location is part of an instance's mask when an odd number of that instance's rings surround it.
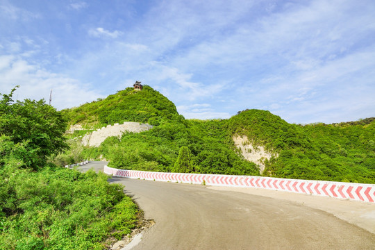
<svg viewBox="0 0 375 250">
<path fill-rule="evenodd" d="M 101 142 L 104 142 L 104 140 L 110 136 L 120 137 L 124 132 L 140 133 L 142 131 L 148 131 L 151 128 L 153 128 L 153 126 L 149 124 L 140 124 L 139 122 L 124 122 L 124 124 L 115 124 L 113 126 L 108 125 L 83 136 L 82 143 L 85 146 L 99 147 Z"/>
</svg>

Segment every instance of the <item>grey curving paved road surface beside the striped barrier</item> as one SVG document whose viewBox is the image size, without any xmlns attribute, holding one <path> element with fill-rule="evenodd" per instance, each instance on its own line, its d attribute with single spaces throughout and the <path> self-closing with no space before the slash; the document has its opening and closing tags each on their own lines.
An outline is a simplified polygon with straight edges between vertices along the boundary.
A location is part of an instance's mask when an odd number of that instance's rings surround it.
<svg viewBox="0 0 375 250">
<path fill-rule="evenodd" d="M 83 167 L 103 168 L 102 163 Z M 292 201 L 202 185 L 110 179 L 156 224 L 133 249 L 375 249 L 375 235 Z"/>
</svg>

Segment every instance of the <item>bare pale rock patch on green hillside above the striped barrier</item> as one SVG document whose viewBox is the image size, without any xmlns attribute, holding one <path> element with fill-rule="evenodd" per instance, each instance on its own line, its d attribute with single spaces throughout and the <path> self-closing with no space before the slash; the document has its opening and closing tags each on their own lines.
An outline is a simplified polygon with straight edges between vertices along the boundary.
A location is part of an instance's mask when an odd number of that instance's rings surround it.
<svg viewBox="0 0 375 250">
<path fill-rule="evenodd" d="M 260 174 L 262 174 L 265 170 L 265 159 L 269 160 L 271 156 L 278 157 L 278 155 L 275 153 L 265 151 L 265 148 L 262 146 L 254 147 L 254 145 L 249 142 L 246 135 L 233 135 L 233 142 L 235 143 L 236 147 L 241 149 L 242 156 L 244 156 L 246 160 L 258 165 Z"/>
</svg>

